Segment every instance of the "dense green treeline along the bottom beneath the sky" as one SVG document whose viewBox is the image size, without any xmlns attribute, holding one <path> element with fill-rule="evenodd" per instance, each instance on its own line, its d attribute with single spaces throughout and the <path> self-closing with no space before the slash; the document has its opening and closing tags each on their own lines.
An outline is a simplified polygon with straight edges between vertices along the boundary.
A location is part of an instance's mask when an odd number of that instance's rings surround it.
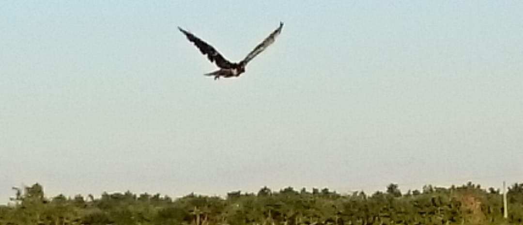
<svg viewBox="0 0 523 225">
<path fill-rule="evenodd" d="M 402 193 L 395 184 L 381 192 L 340 195 L 331 190 L 292 187 L 258 193 L 231 192 L 225 198 L 189 194 L 172 199 L 160 194 L 104 193 L 46 197 L 43 187 L 13 188 L 0 206 L 7 224 L 162 224 L 162 225 L 386 225 L 500 224 L 523 222 L 523 183 L 508 188 L 508 219 L 498 189 L 468 183 L 450 188 L 424 186 Z"/>
</svg>

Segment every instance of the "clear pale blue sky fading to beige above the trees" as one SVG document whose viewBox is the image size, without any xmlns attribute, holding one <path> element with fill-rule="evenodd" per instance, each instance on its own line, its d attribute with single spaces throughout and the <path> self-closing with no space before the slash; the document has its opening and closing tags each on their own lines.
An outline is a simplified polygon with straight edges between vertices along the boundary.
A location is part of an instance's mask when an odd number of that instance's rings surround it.
<svg viewBox="0 0 523 225">
<path fill-rule="evenodd" d="M 523 181 L 522 1 L 0 2 L 0 202 Z M 236 61 L 279 22 L 240 78 Z"/>
</svg>

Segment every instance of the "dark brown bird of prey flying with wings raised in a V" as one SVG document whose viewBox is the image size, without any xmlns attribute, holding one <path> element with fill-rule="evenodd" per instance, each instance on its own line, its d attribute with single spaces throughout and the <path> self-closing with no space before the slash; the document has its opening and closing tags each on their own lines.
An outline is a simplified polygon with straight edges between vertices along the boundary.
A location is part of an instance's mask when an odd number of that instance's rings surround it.
<svg viewBox="0 0 523 225">
<path fill-rule="evenodd" d="M 207 59 L 209 59 L 209 61 L 216 63 L 216 65 L 218 67 L 220 67 L 220 69 L 217 71 L 204 74 L 206 76 L 214 76 L 214 80 L 218 80 L 220 77 L 229 78 L 229 77 L 240 76 L 240 74 L 245 72 L 245 66 L 247 65 L 247 63 L 249 63 L 252 59 L 254 59 L 254 57 L 256 57 L 256 55 L 263 52 L 268 46 L 270 46 L 270 44 L 272 44 L 274 42 L 274 40 L 276 39 L 276 37 L 281 33 L 282 28 L 283 28 L 283 22 L 280 22 L 280 26 L 276 30 L 272 31 L 272 33 L 267 38 L 265 38 L 264 41 L 259 43 L 258 46 L 256 46 L 256 48 L 254 48 L 249 54 L 247 54 L 245 59 L 243 59 L 242 61 L 240 61 L 238 63 L 233 63 L 233 62 L 230 62 L 229 60 L 226 60 L 220 54 L 220 52 L 218 52 L 216 49 L 214 49 L 207 42 L 196 37 L 191 32 L 178 27 L 178 29 L 182 33 L 184 33 L 184 35 L 187 37 L 187 39 L 190 42 L 195 44 L 195 46 L 200 50 L 200 52 L 203 55 L 207 55 Z"/>
</svg>

